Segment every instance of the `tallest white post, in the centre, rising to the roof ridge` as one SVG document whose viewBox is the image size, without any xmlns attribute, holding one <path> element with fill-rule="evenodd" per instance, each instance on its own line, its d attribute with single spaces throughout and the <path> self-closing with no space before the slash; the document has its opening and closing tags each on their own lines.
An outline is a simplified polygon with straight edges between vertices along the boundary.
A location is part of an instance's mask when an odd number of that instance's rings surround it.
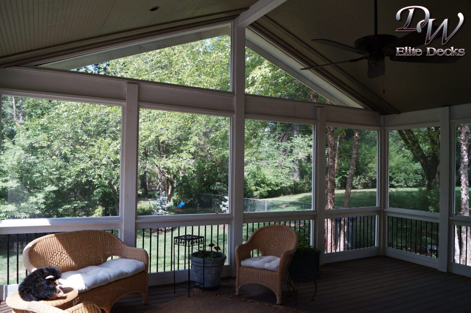
<svg viewBox="0 0 471 313">
<path fill-rule="evenodd" d="M 236 20 L 237 21 L 237 20 Z M 234 112 L 230 130 L 229 197 L 233 215 L 229 231 L 229 258 L 232 275 L 236 274 L 235 247 L 242 243 L 244 222 L 244 131 L 245 131 L 245 27 L 233 23 L 231 87 L 235 93 Z"/>
</svg>

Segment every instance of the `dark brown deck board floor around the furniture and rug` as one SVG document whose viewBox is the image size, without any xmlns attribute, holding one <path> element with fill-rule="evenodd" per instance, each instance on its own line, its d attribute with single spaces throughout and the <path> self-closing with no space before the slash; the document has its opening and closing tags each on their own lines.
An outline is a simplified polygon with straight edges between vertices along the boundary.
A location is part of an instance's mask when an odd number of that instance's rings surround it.
<svg viewBox="0 0 471 313">
<path fill-rule="evenodd" d="M 327 264 L 317 278 L 315 301 L 310 297 L 312 283 L 301 283 L 297 309 L 309 312 L 471 312 L 471 278 L 441 273 L 430 267 L 390 257 L 368 257 Z M 233 295 L 235 279 L 221 280 L 216 292 Z M 140 313 L 186 294 L 186 289 L 173 293 L 172 285 L 149 288 L 148 304 L 140 297 L 118 301 L 113 313 Z M 247 285 L 241 297 L 275 303 L 269 289 Z M 284 293 L 284 304 L 295 307 L 293 297 Z M 0 313 L 11 312 L 2 302 Z"/>
</svg>

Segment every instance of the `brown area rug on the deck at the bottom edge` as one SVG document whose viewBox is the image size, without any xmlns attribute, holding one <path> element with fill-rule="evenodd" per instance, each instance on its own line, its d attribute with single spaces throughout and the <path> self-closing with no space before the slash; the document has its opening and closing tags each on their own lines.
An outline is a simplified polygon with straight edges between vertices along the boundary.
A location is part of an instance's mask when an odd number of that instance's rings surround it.
<svg viewBox="0 0 471 313">
<path fill-rule="evenodd" d="M 181 296 L 173 301 L 154 308 L 146 313 L 302 313 L 292 308 L 272 305 L 241 297 L 218 295 L 212 292 L 195 290 L 190 297 Z"/>
</svg>

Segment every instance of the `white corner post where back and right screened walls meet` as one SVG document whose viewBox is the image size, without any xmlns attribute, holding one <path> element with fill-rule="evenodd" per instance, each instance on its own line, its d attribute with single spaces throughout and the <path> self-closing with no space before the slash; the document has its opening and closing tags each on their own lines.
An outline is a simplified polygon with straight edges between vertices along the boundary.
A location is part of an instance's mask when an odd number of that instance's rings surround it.
<svg viewBox="0 0 471 313">
<path fill-rule="evenodd" d="M 384 116 L 381 117 L 382 128 L 378 136 L 378 176 L 377 186 L 377 205 L 381 209 L 376 223 L 376 244 L 379 247 L 379 254 L 385 255 L 387 248 L 388 221 L 384 209 L 388 208 L 389 192 L 389 140 L 388 131 L 384 129 Z"/>
</svg>

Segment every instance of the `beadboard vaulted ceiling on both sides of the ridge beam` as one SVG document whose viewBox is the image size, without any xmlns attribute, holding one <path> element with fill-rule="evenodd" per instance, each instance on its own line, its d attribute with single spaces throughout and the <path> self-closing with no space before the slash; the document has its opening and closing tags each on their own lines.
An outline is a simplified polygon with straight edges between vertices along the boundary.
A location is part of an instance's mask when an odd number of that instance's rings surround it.
<svg viewBox="0 0 471 313">
<path fill-rule="evenodd" d="M 184 29 L 235 17 L 256 0 L 3 0 L 0 1 L 0 66 L 28 64 L 45 56 L 96 48 L 104 44 Z M 449 18 L 451 32 L 458 21 L 471 16 L 470 1 L 378 1 L 379 33 L 397 35 L 404 21 L 396 12 L 420 5 L 441 23 Z M 150 8 L 159 6 L 156 11 Z M 415 24 L 423 16 L 414 16 Z M 287 0 L 250 27 L 264 34 L 305 65 L 325 64 L 357 57 L 356 54 L 311 41 L 330 39 L 353 45 L 374 33 L 373 0 Z M 447 45 L 471 53 L 469 23 Z M 441 34 L 440 34 L 441 35 Z M 418 47 L 424 48 L 425 46 Z M 386 74 L 368 79 L 366 61 L 317 68 L 314 71 L 381 113 L 398 113 L 471 103 L 468 77 L 471 56 L 453 64 L 402 63 L 386 60 Z"/>
</svg>

